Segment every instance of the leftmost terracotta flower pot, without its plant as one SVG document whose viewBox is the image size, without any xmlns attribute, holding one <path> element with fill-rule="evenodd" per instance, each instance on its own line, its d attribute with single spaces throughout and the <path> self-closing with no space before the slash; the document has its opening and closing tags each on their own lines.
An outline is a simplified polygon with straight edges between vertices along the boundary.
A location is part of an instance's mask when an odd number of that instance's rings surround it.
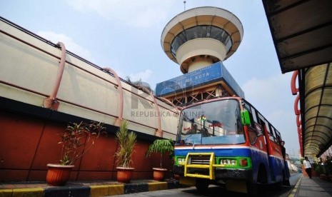
<svg viewBox="0 0 332 197">
<path fill-rule="evenodd" d="M 47 164 L 49 170 L 46 175 L 46 182 L 50 186 L 64 186 L 69 180 L 71 170 L 74 166 L 64 166 L 59 164 Z"/>
</svg>

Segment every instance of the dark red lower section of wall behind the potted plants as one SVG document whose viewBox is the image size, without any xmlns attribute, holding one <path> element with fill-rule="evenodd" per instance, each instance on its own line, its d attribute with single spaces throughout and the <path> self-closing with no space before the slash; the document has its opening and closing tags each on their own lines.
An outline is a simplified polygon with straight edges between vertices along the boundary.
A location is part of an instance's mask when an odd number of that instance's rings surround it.
<svg viewBox="0 0 332 197">
<path fill-rule="evenodd" d="M 0 181 L 45 181 L 47 163 L 57 163 L 61 157 L 59 133 L 65 123 L 44 118 L 0 111 Z M 108 126 L 112 128 L 111 126 Z M 150 140 L 139 138 L 134 153 L 134 179 L 152 178 L 152 168 L 159 163 L 159 156 L 146 159 Z M 71 180 L 116 179 L 116 151 L 114 134 L 101 137 L 91 151 L 76 161 Z M 164 158 L 171 168 L 171 160 Z"/>
</svg>

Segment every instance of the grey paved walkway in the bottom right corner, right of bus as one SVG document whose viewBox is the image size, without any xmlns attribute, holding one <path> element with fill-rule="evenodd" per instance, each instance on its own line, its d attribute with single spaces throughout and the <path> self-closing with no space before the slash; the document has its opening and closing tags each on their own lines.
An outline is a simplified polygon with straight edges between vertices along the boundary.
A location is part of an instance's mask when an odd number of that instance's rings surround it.
<svg viewBox="0 0 332 197">
<path fill-rule="evenodd" d="M 318 177 L 301 176 L 288 197 L 332 196 L 332 183 Z"/>
</svg>

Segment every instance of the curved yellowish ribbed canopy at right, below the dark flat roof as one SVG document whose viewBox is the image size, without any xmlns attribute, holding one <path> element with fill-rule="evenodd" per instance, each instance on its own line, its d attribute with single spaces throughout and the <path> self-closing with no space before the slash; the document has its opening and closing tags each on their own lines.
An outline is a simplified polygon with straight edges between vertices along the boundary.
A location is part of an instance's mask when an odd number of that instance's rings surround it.
<svg viewBox="0 0 332 197">
<path fill-rule="evenodd" d="M 303 150 L 320 155 L 332 142 L 332 64 L 305 71 Z"/>
</svg>

